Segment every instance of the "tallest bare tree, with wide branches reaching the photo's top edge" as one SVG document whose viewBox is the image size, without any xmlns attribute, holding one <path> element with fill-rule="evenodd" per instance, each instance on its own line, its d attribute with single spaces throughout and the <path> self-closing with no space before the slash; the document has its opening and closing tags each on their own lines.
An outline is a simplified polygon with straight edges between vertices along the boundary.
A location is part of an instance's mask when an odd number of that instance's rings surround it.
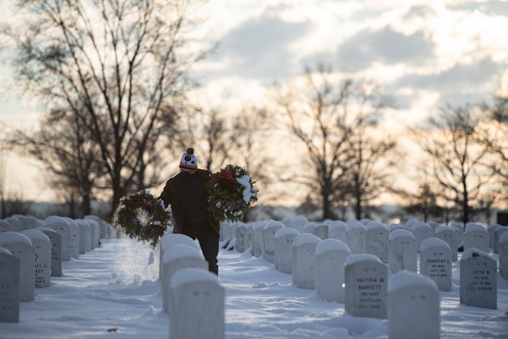
<svg viewBox="0 0 508 339">
<path fill-rule="evenodd" d="M 16 80 L 44 100 L 55 126 L 88 129 L 115 206 L 126 191 L 160 183 L 160 147 L 172 140 L 188 70 L 193 0 L 20 1 L 28 25 L 3 27 Z M 161 164 L 157 164 L 161 165 Z"/>
</svg>

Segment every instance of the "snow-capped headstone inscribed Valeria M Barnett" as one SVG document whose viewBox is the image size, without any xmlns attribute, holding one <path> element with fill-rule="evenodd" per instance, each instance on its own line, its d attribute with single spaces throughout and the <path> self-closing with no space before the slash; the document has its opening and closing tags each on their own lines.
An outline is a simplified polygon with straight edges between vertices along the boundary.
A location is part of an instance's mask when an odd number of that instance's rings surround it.
<svg viewBox="0 0 508 339">
<path fill-rule="evenodd" d="M 372 254 L 351 254 L 345 263 L 344 310 L 354 317 L 387 317 L 388 268 Z"/>
</svg>

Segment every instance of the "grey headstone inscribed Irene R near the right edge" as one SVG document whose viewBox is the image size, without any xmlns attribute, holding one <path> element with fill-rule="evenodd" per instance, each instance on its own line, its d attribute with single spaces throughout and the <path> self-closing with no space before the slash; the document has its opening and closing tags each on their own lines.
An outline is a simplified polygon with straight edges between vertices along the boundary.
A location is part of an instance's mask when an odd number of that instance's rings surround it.
<svg viewBox="0 0 508 339">
<path fill-rule="evenodd" d="M 468 306 L 497 309 L 497 262 L 476 249 L 460 258 L 460 302 Z"/>
</svg>

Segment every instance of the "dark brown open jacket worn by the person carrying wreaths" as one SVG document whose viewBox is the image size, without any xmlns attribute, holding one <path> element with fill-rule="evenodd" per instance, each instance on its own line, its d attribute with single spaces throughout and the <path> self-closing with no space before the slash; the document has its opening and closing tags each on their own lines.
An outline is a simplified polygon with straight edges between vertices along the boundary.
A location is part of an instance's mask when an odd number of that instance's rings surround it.
<svg viewBox="0 0 508 339">
<path fill-rule="evenodd" d="M 206 190 L 206 182 L 210 179 L 212 172 L 198 168 L 196 173 L 198 175 L 199 191 L 201 193 L 201 203 L 203 205 L 204 214 L 210 225 L 213 227 L 215 232 L 219 232 L 220 223 L 216 221 L 212 214 L 207 210 L 208 208 L 208 192 Z M 182 233 L 182 221 L 183 221 L 183 179 L 181 173 L 178 173 L 166 182 L 166 186 L 159 197 L 164 201 L 164 206 L 168 207 L 171 205 L 172 218 L 174 221 L 173 233 Z"/>
</svg>

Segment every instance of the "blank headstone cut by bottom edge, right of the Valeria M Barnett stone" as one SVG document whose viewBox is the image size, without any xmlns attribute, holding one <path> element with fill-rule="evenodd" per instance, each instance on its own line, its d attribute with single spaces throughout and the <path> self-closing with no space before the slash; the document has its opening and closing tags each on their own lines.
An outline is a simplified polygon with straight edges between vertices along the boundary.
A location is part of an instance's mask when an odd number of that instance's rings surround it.
<svg viewBox="0 0 508 339">
<path fill-rule="evenodd" d="M 436 283 L 422 274 L 402 270 L 388 291 L 390 339 L 439 339 L 440 295 Z"/>
</svg>

